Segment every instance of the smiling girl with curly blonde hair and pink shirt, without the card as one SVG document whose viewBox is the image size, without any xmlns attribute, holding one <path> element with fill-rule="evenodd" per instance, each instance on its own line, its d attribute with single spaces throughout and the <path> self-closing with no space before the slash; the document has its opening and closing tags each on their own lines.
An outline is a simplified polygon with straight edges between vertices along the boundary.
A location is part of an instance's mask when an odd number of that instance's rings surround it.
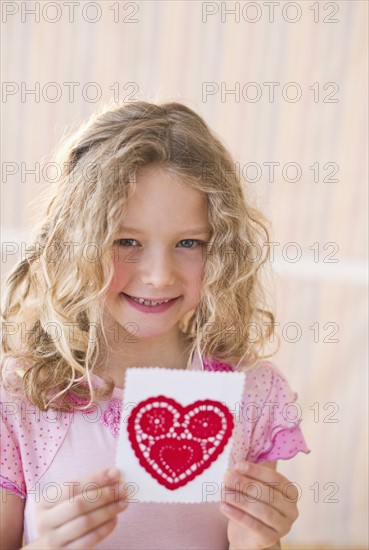
<svg viewBox="0 0 369 550">
<path fill-rule="evenodd" d="M 310 451 L 263 354 L 269 233 L 230 154 L 187 106 L 142 101 L 93 116 L 57 161 L 4 285 L 1 548 L 280 548 L 299 494 L 276 463 Z M 220 503 L 119 483 L 132 366 L 247 372 Z"/>
</svg>

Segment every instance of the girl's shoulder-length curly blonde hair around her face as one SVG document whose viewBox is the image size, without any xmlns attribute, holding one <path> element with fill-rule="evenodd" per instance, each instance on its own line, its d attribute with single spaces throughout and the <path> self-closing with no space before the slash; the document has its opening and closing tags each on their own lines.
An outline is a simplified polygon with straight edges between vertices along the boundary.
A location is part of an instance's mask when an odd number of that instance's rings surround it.
<svg viewBox="0 0 369 550">
<path fill-rule="evenodd" d="M 201 299 L 180 322 L 189 364 L 195 350 L 239 370 L 276 353 L 263 355 L 267 341 L 274 342 L 261 270 L 270 257 L 269 222 L 251 204 L 230 153 L 198 114 L 178 102 L 107 106 L 63 139 L 55 160 L 60 174 L 44 198 L 32 252 L 3 285 L 3 381 L 13 359 L 22 391 L 40 409 L 70 411 L 87 399 L 83 410 L 111 395 L 111 378 L 101 388 L 91 383 L 101 339 L 107 344 L 102 313 L 113 277 L 111 248 L 137 173 L 153 163 L 207 198 L 211 239 Z M 86 248 L 77 246 L 71 261 L 65 243 L 94 245 L 98 254 L 86 261 Z M 21 327 L 22 337 L 9 327 Z M 257 329 L 252 338 L 251 328 Z M 54 329 L 57 338 L 50 334 Z"/>
</svg>

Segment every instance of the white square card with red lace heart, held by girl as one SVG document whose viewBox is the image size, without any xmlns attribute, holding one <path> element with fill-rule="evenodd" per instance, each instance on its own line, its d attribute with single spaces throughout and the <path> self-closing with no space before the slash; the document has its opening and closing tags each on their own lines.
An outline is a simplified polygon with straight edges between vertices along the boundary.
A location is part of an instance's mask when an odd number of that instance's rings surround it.
<svg viewBox="0 0 369 550">
<path fill-rule="evenodd" d="M 116 465 L 135 502 L 220 501 L 245 373 L 126 371 Z"/>
</svg>

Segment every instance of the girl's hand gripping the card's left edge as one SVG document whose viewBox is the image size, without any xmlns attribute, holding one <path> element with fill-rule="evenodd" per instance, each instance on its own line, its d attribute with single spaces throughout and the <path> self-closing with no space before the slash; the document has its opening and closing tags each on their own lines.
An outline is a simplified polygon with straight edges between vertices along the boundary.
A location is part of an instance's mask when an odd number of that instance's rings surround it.
<svg viewBox="0 0 369 550">
<path fill-rule="evenodd" d="M 41 500 L 36 504 L 40 537 L 24 548 L 94 548 L 110 535 L 117 524 L 117 515 L 128 506 L 119 480 L 120 471 L 112 468 L 63 483 L 57 503 Z"/>
</svg>

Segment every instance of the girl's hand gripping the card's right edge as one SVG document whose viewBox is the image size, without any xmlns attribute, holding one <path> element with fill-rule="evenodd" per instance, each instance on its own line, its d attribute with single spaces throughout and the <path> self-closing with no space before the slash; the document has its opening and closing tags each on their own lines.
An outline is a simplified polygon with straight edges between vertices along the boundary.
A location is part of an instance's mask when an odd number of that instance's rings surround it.
<svg viewBox="0 0 369 550">
<path fill-rule="evenodd" d="M 271 467 L 238 462 L 224 476 L 221 511 L 229 518 L 228 540 L 232 550 L 280 548 L 298 517 L 298 491 Z"/>
</svg>

